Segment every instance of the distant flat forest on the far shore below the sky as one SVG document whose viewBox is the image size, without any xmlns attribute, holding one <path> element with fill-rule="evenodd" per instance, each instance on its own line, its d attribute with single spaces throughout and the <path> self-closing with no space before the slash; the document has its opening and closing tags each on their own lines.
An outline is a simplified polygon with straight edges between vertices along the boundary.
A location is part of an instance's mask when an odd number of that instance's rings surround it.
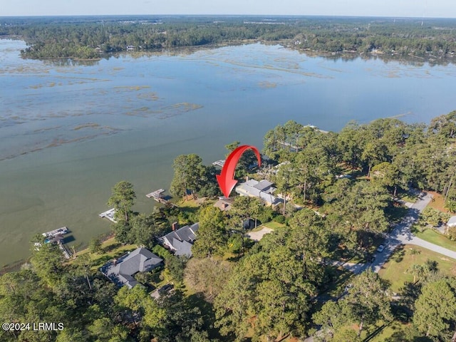
<svg viewBox="0 0 456 342">
<path fill-rule="evenodd" d="M 100 58 L 116 51 L 160 51 L 261 41 L 299 51 L 375 53 L 382 58 L 455 61 L 453 19 L 248 16 L 2 18 L 1 36 L 28 44 L 25 58 Z"/>
</svg>

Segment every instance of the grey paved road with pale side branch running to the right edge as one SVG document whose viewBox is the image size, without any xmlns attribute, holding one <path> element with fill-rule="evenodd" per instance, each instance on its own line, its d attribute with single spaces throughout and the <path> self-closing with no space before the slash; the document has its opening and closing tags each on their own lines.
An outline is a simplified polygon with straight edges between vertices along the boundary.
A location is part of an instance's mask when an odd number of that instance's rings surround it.
<svg viewBox="0 0 456 342">
<path fill-rule="evenodd" d="M 418 199 L 418 201 L 415 202 L 411 207 L 409 207 L 407 216 L 404 217 L 402 222 L 396 224 L 393 232 L 391 232 L 388 238 L 385 240 L 385 249 L 381 253 L 377 252 L 377 256 L 375 257 L 375 260 L 372 264 L 356 265 L 346 263 L 343 264 L 343 267 L 355 274 L 360 274 L 368 267 L 372 267 L 375 272 L 378 272 L 383 267 L 383 264 L 385 264 L 385 262 L 388 260 L 390 255 L 393 253 L 394 249 L 400 244 L 415 244 L 417 246 L 424 247 L 425 249 L 430 249 L 433 252 L 445 255 L 446 257 L 456 259 L 456 252 L 437 246 L 437 244 L 431 244 L 430 242 L 420 239 L 419 237 L 415 237 L 415 235 L 413 235 L 410 231 L 410 227 L 412 227 L 412 224 L 418 220 L 418 215 L 423 211 L 423 209 L 425 209 L 431 199 L 431 195 L 425 195 Z"/>
</svg>

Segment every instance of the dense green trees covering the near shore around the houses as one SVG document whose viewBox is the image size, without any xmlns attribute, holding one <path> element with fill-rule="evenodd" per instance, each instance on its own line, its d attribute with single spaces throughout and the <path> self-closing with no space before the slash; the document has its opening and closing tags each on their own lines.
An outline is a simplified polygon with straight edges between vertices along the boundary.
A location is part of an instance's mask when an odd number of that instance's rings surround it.
<svg viewBox="0 0 456 342">
<path fill-rule="evenodd" d="M 227 145 L 228 152 L 237 145 Z M 366 262 L 375 239 L 401 218 L 397 196 L 411 188 L 440 192 L 456 211 L 456 112 L 429 125 L 394 118 L 352 122 L 340 133 L 289 121 L 266 134 L 264 155 L 269 158 L 257 172 L 245 155 L 237 175 L 274 181 L 287 199 L 276 209 L 234 197 L 227 212 L 209 202 L 138 213 L 133 185 L 119 182 L 108 199 L 117 209 L 116 242 L 145 246 L 164 266 L 135 275 L 146 286 L 118 289 L 96 266 L 110 258 L 96 239 L 88 253 L 64 263 L 56 244 L 32 248 L 20 271 L 1 276 L 1 321 L 61 322 L 64 328 L 1 331 L 1 341 L 282 341 L 310 334 L 315 341 L 364 341 L 378 332 L 379 321 L 400 327 L 383 341 L 450 341 L 456 280 L 436 261 L 414 264 L 413 282 L 393 294 L 373 271 L 350 276 L 333 260 Z M 197 155 L 177 157 L 174 170 L 178 197 L 220 195 L 214 168 Z M 276 228 L 253 242 L 246 219 L 255 226 L 273 220 Z M 172 222 L 199 222 L 191 259 L 158 244 Z M 329 296 L 347 277 L 343 294 Z M 160 281 L 175 289 L 152 299 L 151 284 Z"/>
</svg>

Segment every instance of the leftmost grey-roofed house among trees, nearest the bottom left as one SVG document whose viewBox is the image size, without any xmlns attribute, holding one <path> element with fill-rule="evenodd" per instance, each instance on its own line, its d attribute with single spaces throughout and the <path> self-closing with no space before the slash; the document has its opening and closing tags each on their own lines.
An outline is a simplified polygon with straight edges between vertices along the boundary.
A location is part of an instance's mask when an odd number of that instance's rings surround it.
<svg viewBox="0 0 456 342">
<path fill-rule="evenodd" d="M 160 266 L 163 259 L 145 248 L 135 249 L 119 259 L 109 261 L 100 271 L 118 286 L 133 288 L 138 281 L 133 277 L 138 272 L 147 272 Z"/>
</svg>

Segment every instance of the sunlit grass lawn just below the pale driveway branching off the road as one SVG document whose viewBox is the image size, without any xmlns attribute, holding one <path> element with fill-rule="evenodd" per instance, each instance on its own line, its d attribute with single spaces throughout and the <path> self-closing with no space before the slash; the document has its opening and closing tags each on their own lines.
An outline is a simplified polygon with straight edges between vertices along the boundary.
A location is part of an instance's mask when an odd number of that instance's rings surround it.
<svg viewBox="0 0 456 342">
<path fill-rule="evenodd" d="M 456 276 L 456 260 L 411 244 L 396 248 L 378 274 L 389 281 L 390 289 L 397 293 L 405 281 L 413 281 L 413 275 L 407 273 L 407 269 L 413 264 L 424 264 L 427 259 L 437 261 L 438 269 L 445 274 Z"/>
</svg>

